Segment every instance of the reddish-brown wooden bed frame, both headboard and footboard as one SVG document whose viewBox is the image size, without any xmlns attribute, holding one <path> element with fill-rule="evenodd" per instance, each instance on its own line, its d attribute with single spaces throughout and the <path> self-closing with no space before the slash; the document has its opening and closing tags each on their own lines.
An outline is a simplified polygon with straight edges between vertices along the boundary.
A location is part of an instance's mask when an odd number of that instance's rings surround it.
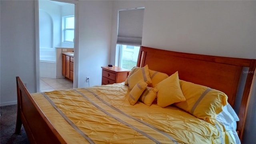
<svg viewBox="0 0 256 144">
<path fill-rule="evenodd" d="M 238 135 L 242 139 L 256 60 L 188 54 L 141 46 L 137 66 L 143 67 L 146 64 L 149 69 L 168 75 L 178 71 L 181 80 L 225 92 L 231 106 L 235 104 L 238 88 L 244 87 L 238 113 L 240 121 L 237 125 Z M 243 67 L 248 67 L 249 70 L 242 72 Z M 240 77 L 246 78 L 244 86 L 239 85 Z M 19 77 L 16 77 L 16 82 L 18 112 L 15 133 L 20 133 L 23 124 L 31 143 L 66 143 L 36 104 Z"/>
</svg>

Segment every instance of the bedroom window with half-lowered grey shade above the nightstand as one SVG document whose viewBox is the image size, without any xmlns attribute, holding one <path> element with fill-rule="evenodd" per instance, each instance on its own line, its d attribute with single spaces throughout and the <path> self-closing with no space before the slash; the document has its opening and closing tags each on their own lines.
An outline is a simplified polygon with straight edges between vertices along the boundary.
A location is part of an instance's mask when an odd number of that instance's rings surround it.
<svg viewBox="0 0 256 144">
<path fill-rule="evenodd" d="M 117 48 L 119 66 L 131 70 L 137 65 L 142 44 L 144 8 L 118 11 Z"/>
</svg>

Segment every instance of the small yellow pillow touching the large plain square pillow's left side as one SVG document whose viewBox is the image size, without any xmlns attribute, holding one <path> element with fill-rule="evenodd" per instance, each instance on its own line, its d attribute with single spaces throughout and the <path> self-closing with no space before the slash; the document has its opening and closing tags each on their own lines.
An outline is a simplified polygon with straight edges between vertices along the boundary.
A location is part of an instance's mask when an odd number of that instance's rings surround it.
<svg viewBox="0 0 256 144">
<path fill-rule="evenodd" d="M 142 95 L 140 96 L 140 100 L 147 106 L 151 106 L 152 102 L 156 99 L 157 92 L 158 90 L 156 88 L 151 88 L 147 86 Z"/>
</svg>

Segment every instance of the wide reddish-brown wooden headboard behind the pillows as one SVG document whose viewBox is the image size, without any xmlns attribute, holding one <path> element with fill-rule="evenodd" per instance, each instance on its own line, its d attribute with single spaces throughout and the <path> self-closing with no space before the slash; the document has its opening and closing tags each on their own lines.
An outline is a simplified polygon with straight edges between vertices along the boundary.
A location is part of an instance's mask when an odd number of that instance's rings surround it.
<svg viewBox="0 0 256 144">
<path fill-rule="evenodd" d="M 220 90 L 227 94 L 228 102 L 234 107 L 240 77 L 247 75 L 242 101 L 240 104 L 237 124 L 238 136 L 242 138 L 250 88 L 255 73 L 256 60 L 244 58 L 228 58 L 172 52 L 140 46 L 138 67 L 148 64 L 148 68 L 164 72 L 169 76 L 178 71 L 179 78 Z M 243 71 L 248 67 L 248 71 Z"/>
</svg>

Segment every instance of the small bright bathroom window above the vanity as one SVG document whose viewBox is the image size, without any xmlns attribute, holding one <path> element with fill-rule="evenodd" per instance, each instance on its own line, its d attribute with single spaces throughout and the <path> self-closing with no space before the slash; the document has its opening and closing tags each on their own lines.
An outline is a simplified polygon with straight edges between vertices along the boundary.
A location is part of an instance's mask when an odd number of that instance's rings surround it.
<svg viewBox="0 0 256 144">
<path fill-rule="evenodd" d="M 74 43 L 74 16 L 64 16 L 63 21 L 63 42 Z"/>
</svg>

